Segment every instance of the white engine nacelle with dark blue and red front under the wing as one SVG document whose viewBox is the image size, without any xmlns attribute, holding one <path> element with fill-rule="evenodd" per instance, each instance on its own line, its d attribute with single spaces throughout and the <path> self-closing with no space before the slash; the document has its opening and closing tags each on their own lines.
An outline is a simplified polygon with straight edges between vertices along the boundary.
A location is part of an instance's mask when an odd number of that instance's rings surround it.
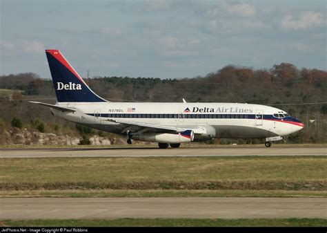
<svg viewBox="0 0 327 233">
<path fill-rule="evenodd" d="M 194 140 L 194 132 L 192 130 L 186 130 L 182 133 L 142 133 L 132 136 L 132 139 L 143 142 L 161 143 L 192 142 Z"/>
</svg>

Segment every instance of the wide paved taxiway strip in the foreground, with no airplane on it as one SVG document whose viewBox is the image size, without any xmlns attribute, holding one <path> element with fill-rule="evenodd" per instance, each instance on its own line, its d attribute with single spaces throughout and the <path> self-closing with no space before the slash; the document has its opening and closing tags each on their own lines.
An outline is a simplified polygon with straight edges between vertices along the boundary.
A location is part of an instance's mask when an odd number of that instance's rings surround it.
<svg viewBox="0 0 327 233">
<path fill-rule="evenodd" d="M 0 198 L 0 219 L 327 218 L 327 198 Z"/>
</svg>

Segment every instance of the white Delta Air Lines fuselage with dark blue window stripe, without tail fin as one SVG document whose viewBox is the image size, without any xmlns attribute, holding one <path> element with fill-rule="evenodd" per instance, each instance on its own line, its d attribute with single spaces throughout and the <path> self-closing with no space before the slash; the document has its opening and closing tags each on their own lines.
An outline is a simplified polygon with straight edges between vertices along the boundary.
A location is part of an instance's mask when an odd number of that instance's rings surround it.
<svg viewBox="0 0 327 233">
<path fill-rule="evenodd" d="M 75 113 L 52 109 L 54 115 L 95 129 L 125 134 L 112 120 L 126 120 L 194 131 L 195 136 L 212 138 L 271 138 L 286 136 L 303 126 L 295 118 L 271 106 L 237 103 L 160 103 L 160 102 L 61 102 L 58 106 Z M 212 135 L 214 134 L 214 135 Z"/>
</svg>

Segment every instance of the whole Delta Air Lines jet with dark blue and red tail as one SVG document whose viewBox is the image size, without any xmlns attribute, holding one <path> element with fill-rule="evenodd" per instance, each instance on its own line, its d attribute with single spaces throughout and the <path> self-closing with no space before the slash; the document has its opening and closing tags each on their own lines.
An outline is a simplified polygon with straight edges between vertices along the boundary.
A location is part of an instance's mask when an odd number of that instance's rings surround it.
<svg viewBox="0 0 327 233">
<path fill-rule="evenodd" d="M 88 127 L 127 136 L 127 142 L 183 142 L 212 138 L 265 138 L 266 147 L 303 129 L 304 124 L 271 106 L 236 103 L 109 102 L 94 93 L 59 50 L 46 50 L 57 104 L 53 115 Z"/>
</svg>

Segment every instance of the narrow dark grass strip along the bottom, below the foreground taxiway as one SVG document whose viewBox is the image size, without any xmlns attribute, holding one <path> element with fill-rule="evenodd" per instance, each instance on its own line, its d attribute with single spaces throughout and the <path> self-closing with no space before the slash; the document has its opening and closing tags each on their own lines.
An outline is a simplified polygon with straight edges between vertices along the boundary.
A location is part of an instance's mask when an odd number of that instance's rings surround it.
<svg viewBox="0 0 327 233">
<path fill-rule="evenodd" d="M 326 219 L 192 219 L 192 218 L 120 218 L 112 220 L 32 220 L 0 221 L 0 227 L 326 227 Z"/>
</svg>

